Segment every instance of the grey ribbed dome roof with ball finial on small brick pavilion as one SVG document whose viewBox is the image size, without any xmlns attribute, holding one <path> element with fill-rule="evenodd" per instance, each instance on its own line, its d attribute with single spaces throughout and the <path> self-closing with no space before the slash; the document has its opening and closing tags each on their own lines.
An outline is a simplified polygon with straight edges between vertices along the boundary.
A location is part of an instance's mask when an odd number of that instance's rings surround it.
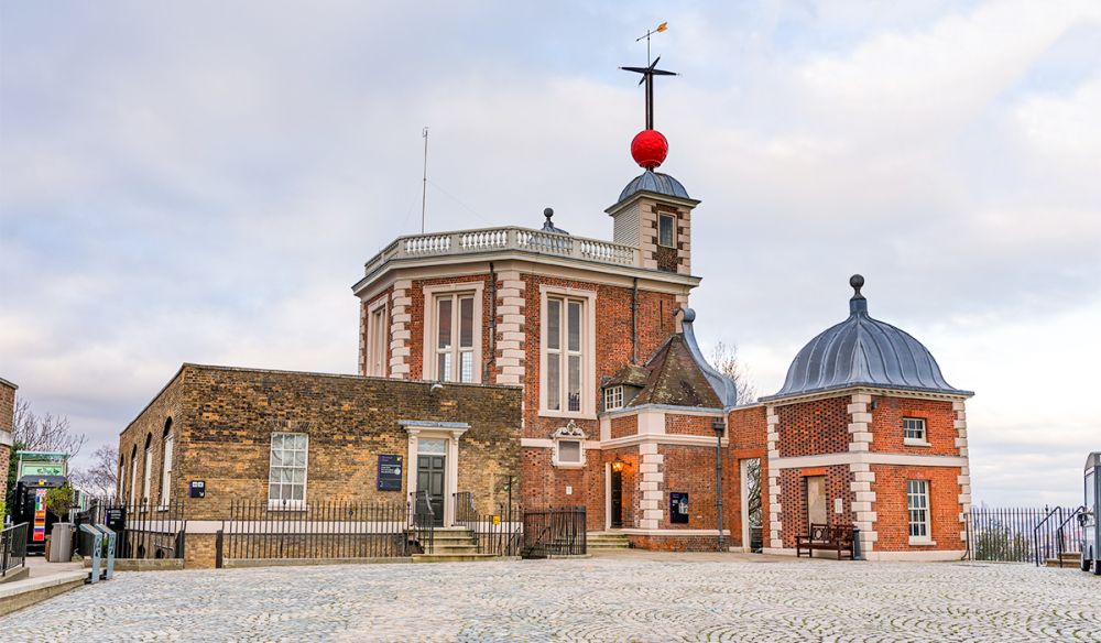
<svg viewBox="0 0 1101 643">
<path fill-rule="evenodd" d="M 920 341 L 869 316 L 868 301 L 860 294 L 864 277 L 853 275 L 849 283 L 855 291 L 849 301 L 849 318 L 803 347 L 787 370 L 784 386 L 762 401 L 852 386 L 973 394 L 949 384 Z"/>
</svg>

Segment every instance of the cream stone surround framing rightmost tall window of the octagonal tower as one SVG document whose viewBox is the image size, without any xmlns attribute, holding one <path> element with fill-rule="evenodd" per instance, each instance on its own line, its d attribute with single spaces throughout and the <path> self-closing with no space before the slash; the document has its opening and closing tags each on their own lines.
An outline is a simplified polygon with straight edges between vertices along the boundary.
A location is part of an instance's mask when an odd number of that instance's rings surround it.
<svg viewBox="0 0 1101 643">
<path fill-rule="evenodd" d="M 549 385 L 547 381 L 547 301 L 550 298 L 581 302 L 581 408 L 579 411 L 552 410 L 547 407 L 547 388 Z M 595 291 L 549 285 L 539 286 L 539 415 L 544 417 L 596 419 L 596 328 L 597 293 Z M 565 368 L 560 369 L 559 377 L 565 380 L 566 373 L 567 370 Z M 560 399 L 565 401 L 565 396 Z"/>
</svg>

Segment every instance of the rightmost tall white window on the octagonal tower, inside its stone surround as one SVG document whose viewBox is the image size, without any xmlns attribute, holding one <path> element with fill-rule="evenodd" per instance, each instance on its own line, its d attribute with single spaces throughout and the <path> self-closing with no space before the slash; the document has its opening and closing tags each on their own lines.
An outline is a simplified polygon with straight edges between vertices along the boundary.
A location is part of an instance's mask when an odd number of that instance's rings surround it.
<svg viewBox="0 0 1101 643">
<path fill-rule="evenodd" d="M 584 312 L 584 299 L 547 299 L 547 378 L 544 385 L 549 411 L 581 411 Z"/>
</svg>

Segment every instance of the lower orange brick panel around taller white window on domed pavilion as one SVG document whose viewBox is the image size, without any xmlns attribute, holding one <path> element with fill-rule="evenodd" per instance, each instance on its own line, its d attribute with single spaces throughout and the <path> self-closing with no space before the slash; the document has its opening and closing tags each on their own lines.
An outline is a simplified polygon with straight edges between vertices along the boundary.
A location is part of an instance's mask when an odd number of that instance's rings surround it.
<svg viewBox="0 0 1101 643">
<path fill-rule="evenodd" d="M 960 486 L 957 476 L 960 470 L 952 467 L 902 467 L 895 465 L 872 465 L 875 482 L 876 513 L 875 532 L 879 540 L 877 552 L 903 552 L 927 549 L 963 549 L 960 541 L 959 503 Z M 933 540 L 936 546 L 911 546 L 909 515 L 906 509 L 906 481 L 929 481 L 929 511 Z"/>
</svg>

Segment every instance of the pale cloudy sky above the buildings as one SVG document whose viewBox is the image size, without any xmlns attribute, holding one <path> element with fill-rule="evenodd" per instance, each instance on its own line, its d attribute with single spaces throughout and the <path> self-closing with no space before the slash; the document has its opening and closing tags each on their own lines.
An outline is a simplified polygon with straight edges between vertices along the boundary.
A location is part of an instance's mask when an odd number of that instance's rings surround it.
<svg viewBox="0 0 1101 643">
<path fill-rule="evenodd" d="M 523 6 L 522 6 L 523 4 Z M 531 6 L 527 6 L 531 4 Z M 0 3 L 0 377 L 90 437 L 181 362 L 355 372 L 349 286 L 427 226 L 611 237 L 663 66 L 693 296 L 762 394 L 847 315 L 928 346 L 975 497 L 1101 449 L 1101 3 Z M 320 6 L 320 7 L 318 7 Z"/>
</svg>

